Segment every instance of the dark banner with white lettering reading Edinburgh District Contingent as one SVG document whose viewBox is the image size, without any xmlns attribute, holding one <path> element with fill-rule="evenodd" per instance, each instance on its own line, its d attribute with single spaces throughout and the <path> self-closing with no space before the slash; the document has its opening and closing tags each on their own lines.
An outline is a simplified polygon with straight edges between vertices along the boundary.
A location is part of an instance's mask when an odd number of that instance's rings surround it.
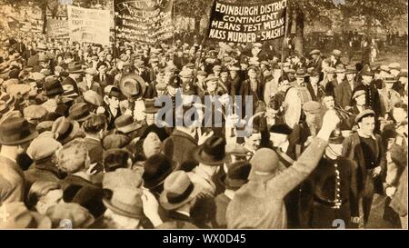
<svg viewBox="0 0 409 248">
<path fill-rule="evenodd" d="M 214 0 L 208 37 L 233 43 L 261 43 L 284 36 L 286 0 L 232 4 Z"/>
</svg>

